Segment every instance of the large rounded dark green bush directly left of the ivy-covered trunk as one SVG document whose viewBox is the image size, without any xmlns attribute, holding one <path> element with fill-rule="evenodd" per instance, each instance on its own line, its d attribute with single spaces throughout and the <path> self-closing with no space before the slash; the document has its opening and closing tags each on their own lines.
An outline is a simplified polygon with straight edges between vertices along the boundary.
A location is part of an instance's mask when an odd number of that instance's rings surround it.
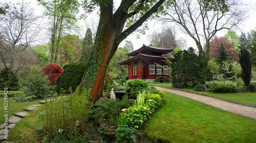
<svg viewBox="0 0 256 143">
<path fill-rule="evenodd" d="M 66 66 L 64 72 L 58 77 L 56 81 L 56 91 L 59 93 L 60 89 L 68 91 L 69 87 L 72 87 L 72 91 L 76 90 L 76 87 L 80 84 L 84 69 L 86 68 L 83 64 L 76 64 Z"/>
</svg>

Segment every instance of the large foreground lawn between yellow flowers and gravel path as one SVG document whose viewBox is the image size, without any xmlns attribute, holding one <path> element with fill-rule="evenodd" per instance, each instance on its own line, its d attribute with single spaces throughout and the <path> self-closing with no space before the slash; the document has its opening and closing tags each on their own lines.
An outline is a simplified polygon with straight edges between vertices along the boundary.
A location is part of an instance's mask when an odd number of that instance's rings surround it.
<svg viewBox="0 0 256 143">
<path fill-rule="evenodd" d="M 255 142 L 256 120 L 167 93 L 144 126 L 155 142 Z"/>
</svg>

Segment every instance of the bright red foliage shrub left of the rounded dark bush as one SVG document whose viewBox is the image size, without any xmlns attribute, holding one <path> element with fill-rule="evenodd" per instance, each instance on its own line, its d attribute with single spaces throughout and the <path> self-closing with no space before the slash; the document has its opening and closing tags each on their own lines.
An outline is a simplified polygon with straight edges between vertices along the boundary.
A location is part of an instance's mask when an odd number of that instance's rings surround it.
<svg viewBox="0 0 256 143">
<path fill-rule="evenodd" d="M 47 74 L 47 79 L 51 82 L 52 85 L 55 84 L 57 78 L 63 73 L 63 69 L 56 63 L 49 64 L 42 67 L 42 70 Z"/>
</svg>

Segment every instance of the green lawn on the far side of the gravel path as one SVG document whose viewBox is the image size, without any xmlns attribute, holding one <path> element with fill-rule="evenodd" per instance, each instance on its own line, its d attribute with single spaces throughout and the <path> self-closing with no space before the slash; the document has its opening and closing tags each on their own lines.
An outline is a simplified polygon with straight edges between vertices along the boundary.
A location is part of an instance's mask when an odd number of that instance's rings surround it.
<svg viewBox="0 0 256 143">
<path fill-rule="evenodd" d="M 231 82 L 232 83 L 232 82 Z M 150 83 L 164 88 L 173 88 L 171 83 Z M 199 93 L 212 97 L 225 99 L 227 101 L 236 102 L 244 105 L 256 106 L 256 94 L 255 93 L 213 93 L 213 92 L 198 92 L 194 89 L 181 89 L 189 92 Z"/>
</svg>

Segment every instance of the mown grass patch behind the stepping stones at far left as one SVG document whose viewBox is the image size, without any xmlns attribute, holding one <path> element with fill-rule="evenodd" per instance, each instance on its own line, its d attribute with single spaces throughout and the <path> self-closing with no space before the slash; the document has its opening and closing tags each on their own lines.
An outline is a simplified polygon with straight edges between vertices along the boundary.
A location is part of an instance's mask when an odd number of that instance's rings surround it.
<svg viewBox="0 0 256 143">
<path fill-rule="evenodd" d="M 23 108 L 27 107 L 27 106 L 30 106 L 30 105 L 33 105 L 33 104 L 39 104 L 38 101 L 33 101 L 33 102 L 14 102 L 14 100 L 10 100 L 10 99 L 13 99 L 12 97 L 11 98 L 8 98 L 8 118 L 13 116 L 13 113 L 16 113 L 16 112 L 20 112 L 20 111 L 25 111 Z M 4 98 L 1 97 L 0 98 L 0 107 L 1 107 L 1 112 L 4 113 L 5 108 L 4 108 Z M 4 116 L 1 116 L 0 117 L 0 124 L 2 124 L 3 122 L 5 121 L 5 117 Z"/>
</svg>

